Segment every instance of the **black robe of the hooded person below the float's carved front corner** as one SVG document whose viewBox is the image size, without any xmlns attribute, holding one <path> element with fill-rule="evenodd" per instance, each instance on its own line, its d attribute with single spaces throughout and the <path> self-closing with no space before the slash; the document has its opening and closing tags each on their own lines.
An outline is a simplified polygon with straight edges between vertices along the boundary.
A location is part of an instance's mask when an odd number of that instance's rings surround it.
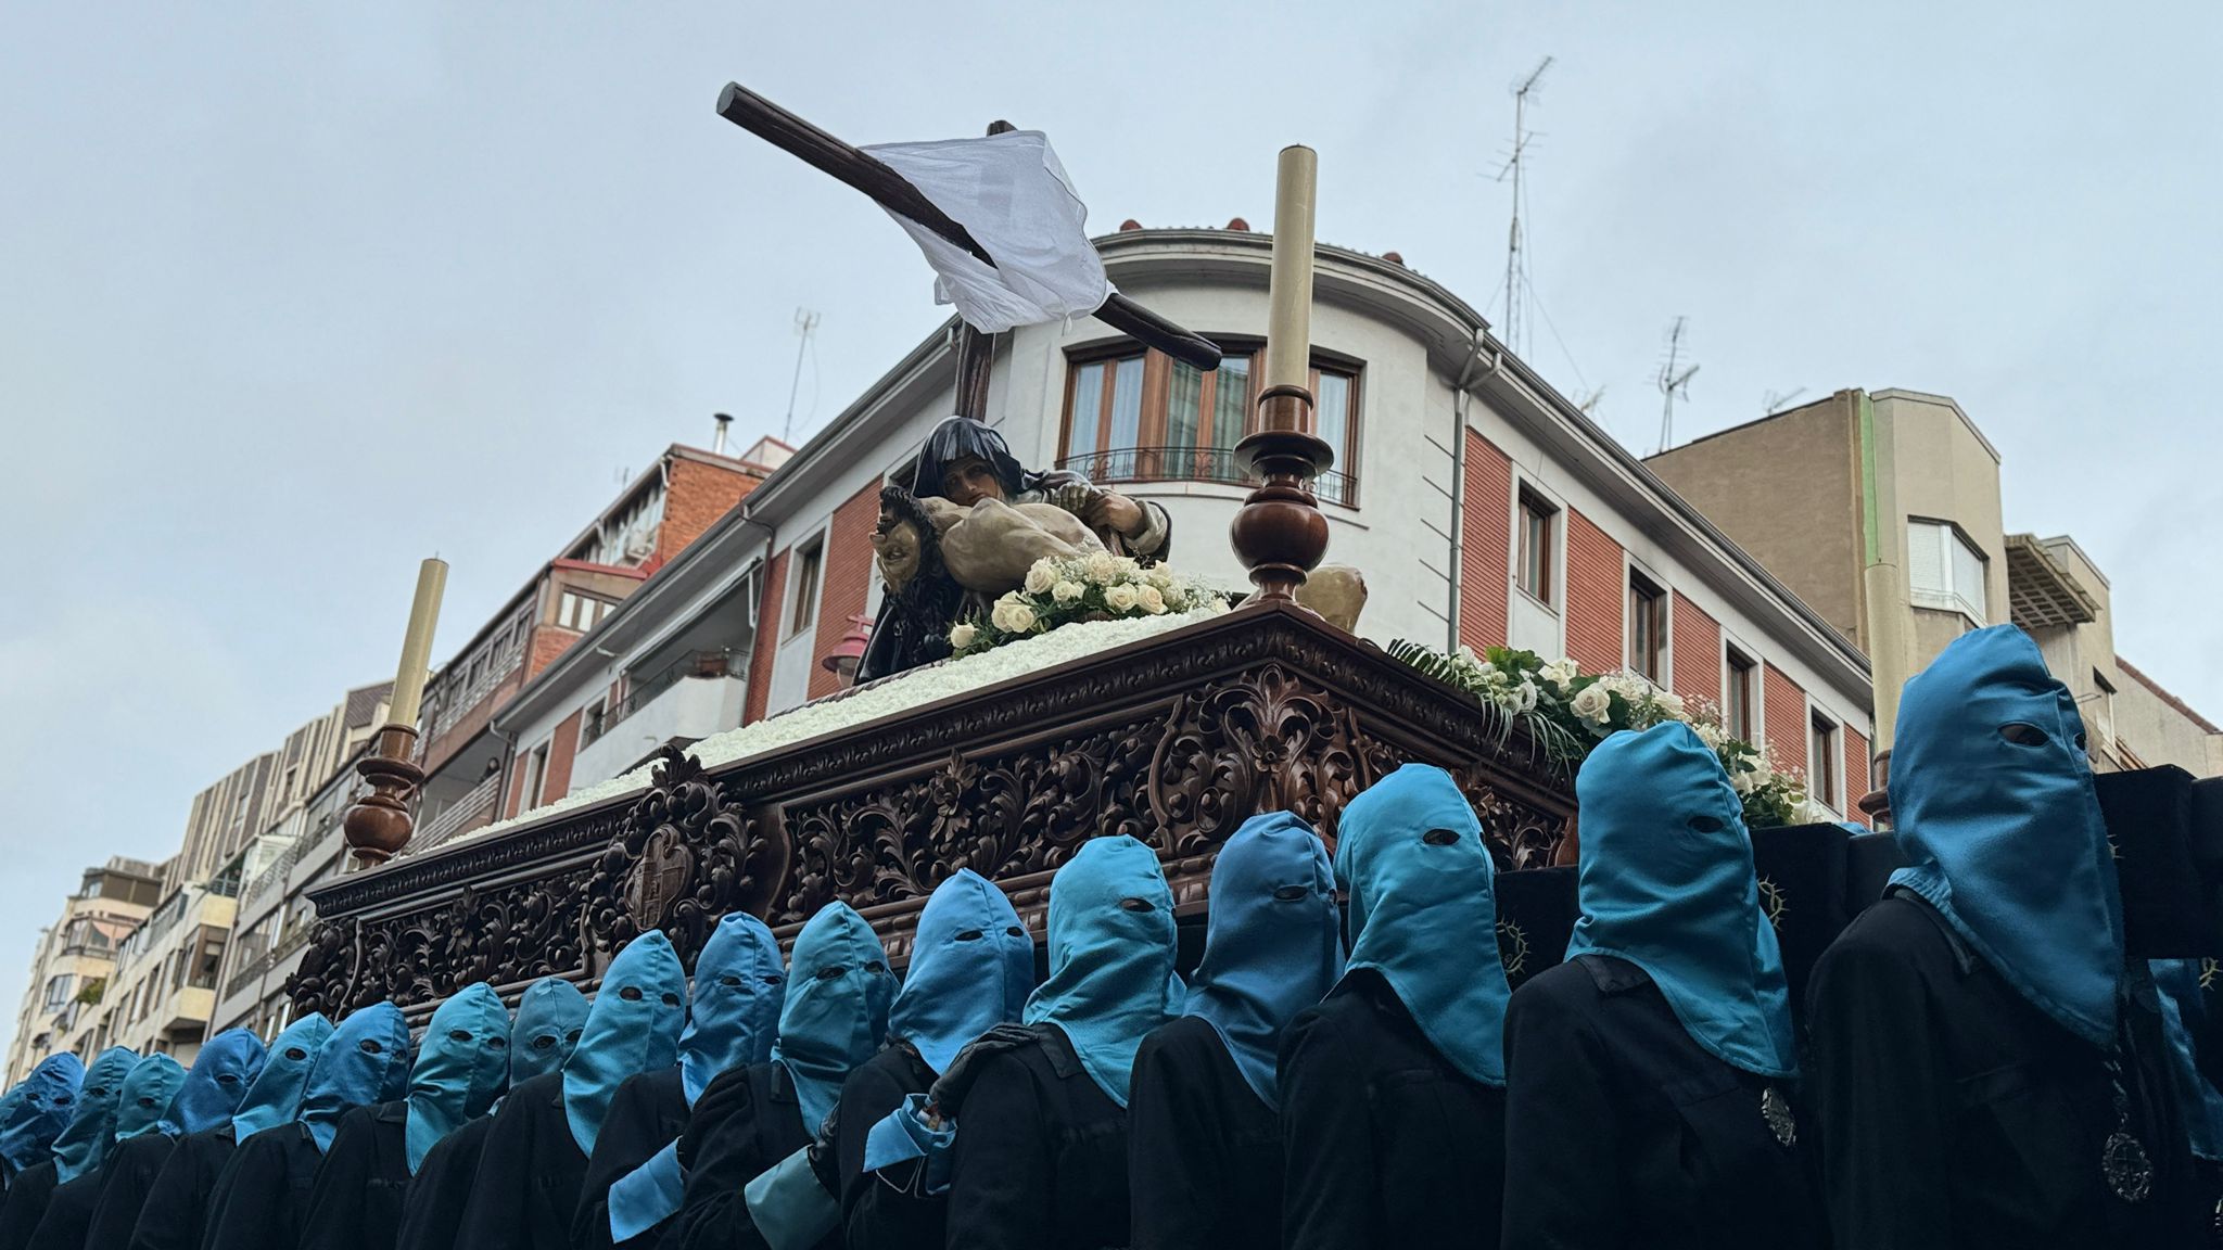
<svg viewBox="0 0 2223 1250">
<path fill-rule="evenodd" d="M 1134 1056 L 1127 1185 L 1134 1250 L 1278 1250 L 1280 1117 L 1218 1030 L 1158 1025 Z"/>
</svg>

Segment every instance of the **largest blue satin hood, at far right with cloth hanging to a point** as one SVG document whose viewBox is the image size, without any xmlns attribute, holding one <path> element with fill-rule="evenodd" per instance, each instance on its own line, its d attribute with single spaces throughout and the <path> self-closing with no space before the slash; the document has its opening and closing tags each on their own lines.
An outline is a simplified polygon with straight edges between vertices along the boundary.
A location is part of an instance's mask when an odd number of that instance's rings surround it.
<svg viewBox="0 0 2223 1250">
<path fill-rule="evenodd" d="M 2030 1005 L 2114 1045 L 2123 899 L 2083 718 L 2014 625 L 1954 638 L 1907 678 L 1892 821 L 1921 894 Z M 1587 836 L 1587 830 L 1585 830 Z"/>
</svg>

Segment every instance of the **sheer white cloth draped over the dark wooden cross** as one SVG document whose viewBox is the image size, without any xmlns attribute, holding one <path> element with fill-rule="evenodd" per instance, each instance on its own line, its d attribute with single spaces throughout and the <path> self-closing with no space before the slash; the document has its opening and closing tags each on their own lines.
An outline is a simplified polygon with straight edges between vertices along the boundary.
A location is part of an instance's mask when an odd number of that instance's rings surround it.
<svg viewBox="0 0 2223 1250">
<path fill-rule="evenodd" d="M 956 305 L 965 325 L 1003 334 L 1089 316 L 1112 298 L 1105 262 L 1089 242 L 1089 209 L 1058 165 L 1043 131 L 1005 131 L 938 142 L 867 147 L 905 182 L 965 227 L 996 258 L 978 256 L 931 229 L 896 218 L 934 267 L 934 302 Z"/>
</svg>

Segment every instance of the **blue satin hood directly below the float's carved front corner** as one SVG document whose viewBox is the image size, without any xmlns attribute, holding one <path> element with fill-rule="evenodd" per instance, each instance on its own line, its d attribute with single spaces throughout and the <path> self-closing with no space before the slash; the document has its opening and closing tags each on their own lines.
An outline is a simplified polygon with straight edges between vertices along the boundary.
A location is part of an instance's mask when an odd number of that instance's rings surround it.
<svg viewBox="0 0 2223 1250">
<path fill-rule="evenodd" d="M 1205 959 L 1183 1014 L 1207 1021 L 1243 1081 L 1280 1105 L 1280 1030 L 1343 976 L 1343 916 L 1327 847 L 1296 812 L 1243 821 L 1212 863 Z"/>
</svg>

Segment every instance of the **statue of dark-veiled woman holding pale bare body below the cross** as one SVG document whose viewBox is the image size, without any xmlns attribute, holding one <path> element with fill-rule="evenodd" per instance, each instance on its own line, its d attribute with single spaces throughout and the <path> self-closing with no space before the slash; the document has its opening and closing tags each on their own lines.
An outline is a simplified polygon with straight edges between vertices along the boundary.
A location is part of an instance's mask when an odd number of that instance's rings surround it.
<svg viewBox="0 0 2223 1250">
<path fill-rule="evenodd" d="M 1027 472 L 1003 434 L 951 416 L 927 434 L 909 489 L 880 492 L 874 552 L 885 596 L 856 678 L 874 681 L 949 656 L 949 627 L 1016 589 L 1043 556 L 1091 547 L 1165 558 L 1165 509 L 1091 485 Z"/>
</svg>

